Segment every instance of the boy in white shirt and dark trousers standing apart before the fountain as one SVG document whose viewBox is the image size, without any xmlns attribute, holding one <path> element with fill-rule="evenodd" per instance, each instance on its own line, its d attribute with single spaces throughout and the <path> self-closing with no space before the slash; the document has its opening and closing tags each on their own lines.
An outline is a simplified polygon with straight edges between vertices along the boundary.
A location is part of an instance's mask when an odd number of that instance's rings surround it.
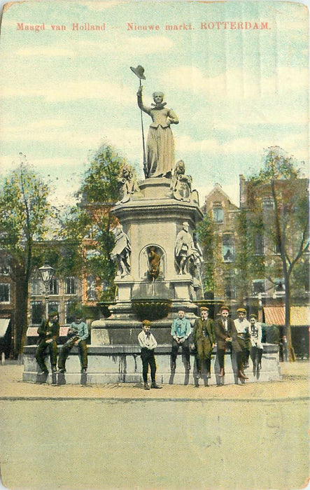
<svg viewBox="0 0 310 490">
<path fill-rule="evenodd" d="M 150 333 L 151 325 L 150 321 L 143 320 L 141 323 L 142 331 L 138 335 L 139 344 L 141 346 L 142 375 L 145 390 L 149 390 L 150 387 L 155 389 L 162 388 L 162 386 L 158 386 L 155 381 L 156 362 L 154 349 L 157 347 L 157 342 L 154 335 Z M 152 381 L 150 386 L 148 386 L 148 366 L 150 366 L 150 379 Z"/>
</svg>

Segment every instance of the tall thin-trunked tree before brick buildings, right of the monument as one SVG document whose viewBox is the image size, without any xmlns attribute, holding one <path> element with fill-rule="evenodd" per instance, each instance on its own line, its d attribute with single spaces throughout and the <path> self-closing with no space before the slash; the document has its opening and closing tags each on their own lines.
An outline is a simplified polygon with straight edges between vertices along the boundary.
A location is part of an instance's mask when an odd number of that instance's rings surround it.
<svg viewBox="0 0 310 490">
<path fill-rule="evenodd" d="M 269 273 L 281 269 L 285 286 L 285 332 L 288 339 L 290 360 L 295 360 L 290 332 L 291 280 L 293 271 L 309 249 L 309 195 L 307 179 L 300 179 L 300 169 L 292 156 L 282 148 L 267 149 L 265 165 L 251 177 L 248 185 L 248 209 L 251 223 L 264 228 L 267 237 L 265 250 Z M 262 208 L 262 195 L 269 193 L 271 206 Z M 271 260 L 274 251 L 280 260 Z M 274 256 L 274 255 L 273 255 Z M 267 258 L 265 258 L 267 260 Z M 267 262 L 266 262 L 267 263 Z M 268 274 L 268 273 L 267 273 Z"/>
</svg>

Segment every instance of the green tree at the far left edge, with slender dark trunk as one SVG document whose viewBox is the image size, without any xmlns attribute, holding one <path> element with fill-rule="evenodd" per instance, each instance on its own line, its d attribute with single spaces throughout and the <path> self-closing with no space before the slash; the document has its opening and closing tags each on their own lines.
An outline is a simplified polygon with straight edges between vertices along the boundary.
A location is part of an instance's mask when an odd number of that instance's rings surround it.
<svg viewBox="0 0 310 490">
<path fill-rule="evenodd" d="M 24 155 L 20 166 L 3 179 L 0 187 L 0 247 L 2 260 L 15 283 L 14 356 L 20 356 L 27 331 L 29 279 L 35 265 L 36 241 L 43 239 L 50 216 L 48 186 L 31 169 Z"/>
</svg>

